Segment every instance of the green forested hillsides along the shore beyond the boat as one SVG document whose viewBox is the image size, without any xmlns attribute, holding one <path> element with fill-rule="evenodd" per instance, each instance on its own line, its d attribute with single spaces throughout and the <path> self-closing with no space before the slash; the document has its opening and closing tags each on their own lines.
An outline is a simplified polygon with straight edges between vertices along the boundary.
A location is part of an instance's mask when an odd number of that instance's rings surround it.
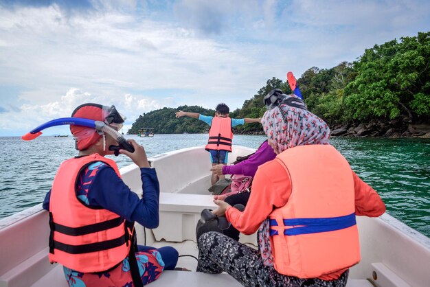
<svg viewBox="0 0 430 287">
<path fill-rule="evenodd" d="M 418 135 L 414 126 L 430 124 L 430 32 L 394 39 L 365 49 L 354 62 L 331 69 L 311 67 L 297 78 L 308 109 L 330 127 L 352 135 Z M 291 93 L 288 82 L 271 78 L 230 117 L 261 117 L 263 97 L 271 89 Z M 176 119 L 178 110 L 213 115 L 200 106 L 162 108 L 141 115 L 128 133 L 152 127 L 155 133 L 204 133 L 208 126 L 191 118 Z M 360 129 L 361 127 L 361 129 Z M 236 133 L 258 133 L 258 124 L 235 128 Z M 348 133 L 349 132 L 349 133 Z"/>
</svg>

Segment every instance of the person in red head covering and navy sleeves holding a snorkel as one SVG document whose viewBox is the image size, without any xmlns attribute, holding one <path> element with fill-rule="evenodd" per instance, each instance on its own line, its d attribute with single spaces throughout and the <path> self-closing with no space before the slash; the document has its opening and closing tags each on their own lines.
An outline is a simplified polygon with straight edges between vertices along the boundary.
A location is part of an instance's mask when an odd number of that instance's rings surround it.
<svg viewBox="0 0 430 287">
<path fill-rule="evenodd" d="M 72 117 L 92 119 L 120 130 L 124 117 L 100 104 L 82 104 Z M 117 141 L 109 133 L 70 126 L 78 156 L 63 162 L 43 208 L 49 211 L 49 261 L 63 264 L 69 286 L 142 286 L 174 269 L 178 251 L 136 245 L 134 222 L 159 225 L 159 182 L 146 152 L 119 150 L 139 166 L 142 199 L 122 181 L 115 161 L 104 156 Z"/>
</svg>

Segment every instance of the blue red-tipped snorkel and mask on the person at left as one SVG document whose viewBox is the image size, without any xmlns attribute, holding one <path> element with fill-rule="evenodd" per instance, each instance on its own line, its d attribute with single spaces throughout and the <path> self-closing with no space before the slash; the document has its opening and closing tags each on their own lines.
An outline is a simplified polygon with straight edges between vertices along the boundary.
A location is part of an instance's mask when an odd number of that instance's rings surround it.
<svg viewBox="0 0 430 287">
<path fill-rule="evenodd" d="M 44 130 L 45 128 L 69 124 L 73 126 L 85 126 L 88 128 L 94 128 L 99 133 L 107 133 L 111 135 L 111 137 L 113 137 L 118 143 L 118 146 L 109 146 L 109 150 L 113 150 L 115 156 L 118 156 L 120 154 L 120 149 L 127 150 L 128 152 L 135 151 L 133 146 L 128 143 L 128 141 L 126 141 L 126 139 L 118 132 L 119 130 L 121 130 L 126 117 L 118 113 L 115 106 L 107 107 L 99 104 L 83 104 L 81 106 L 78 106 L 78 108 L 73 111 L 72 115 L 74 115 L 76 111 L 82 108 L 82 106 L 95 106 L 101 108 L 102 113 L 106 114 L 105 122 L 93 119 L 85 119 L 82 117 L 63 117 L 60 119 L 53 119 L 52 121 L 46 122 L 45 124 L 38 126 L 37 128 L 31 130 L 30 133 L 23 135 L 23 137 L 21 138 L 25 141 L 31 141 L 39 135 L 42 135 L 41 130 Z"/>
</svg>

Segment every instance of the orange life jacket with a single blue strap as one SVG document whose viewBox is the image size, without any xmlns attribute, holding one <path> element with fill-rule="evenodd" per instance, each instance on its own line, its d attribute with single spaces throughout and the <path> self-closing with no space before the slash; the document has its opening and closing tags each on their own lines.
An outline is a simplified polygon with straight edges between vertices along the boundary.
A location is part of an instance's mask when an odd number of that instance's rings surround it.
<svg viewBox="0 0 430 287">
<path fill-rule="evenodd" d="M 329 145 L 290 148 L 275 161 L 288 172 L 292 189 L 286 205 L 269 215 L 275 269 L 315 278 L 357 264 L 360 244 L 348 161 Z"/>
</svg>

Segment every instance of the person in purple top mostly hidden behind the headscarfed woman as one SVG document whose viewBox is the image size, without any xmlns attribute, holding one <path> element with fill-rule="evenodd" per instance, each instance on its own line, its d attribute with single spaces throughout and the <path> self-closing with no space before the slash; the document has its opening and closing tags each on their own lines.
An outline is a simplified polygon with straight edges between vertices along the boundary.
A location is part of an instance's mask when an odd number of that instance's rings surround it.
<svg viewBox="0 0 430 287">
<path fill-rule="evenodd" d="M 211 171 L 218 176 L 225 174 L 243 174 L 245 176 L 255 176 L 257 172 L 257 168 L 266 163 L 267 161 L 271 161 L 275 159 L 276 154 L 273 152 L 273 148 L 269 145 L 267 139 L 262 142 L 260 147 L 256 152 L 251 154 L 247 159 L 240 161 L 239 163 L 232 165 L 214 165 Z M 231 206 L 236 204 L 241 204 L 246 206 L 249 200 L 251 192 L 240 192 L 238 194 L 223 194 L 220 196 L 214 196 L 214 199 L 224 200 Z M 223 233 L 229 238 L 233 238 L 234 240 L 239 240 L 240 232 L 238 229 L 234 228 L 233 225 L 230 225 L 228 229 L 223 230 Z"/>
</svg>

